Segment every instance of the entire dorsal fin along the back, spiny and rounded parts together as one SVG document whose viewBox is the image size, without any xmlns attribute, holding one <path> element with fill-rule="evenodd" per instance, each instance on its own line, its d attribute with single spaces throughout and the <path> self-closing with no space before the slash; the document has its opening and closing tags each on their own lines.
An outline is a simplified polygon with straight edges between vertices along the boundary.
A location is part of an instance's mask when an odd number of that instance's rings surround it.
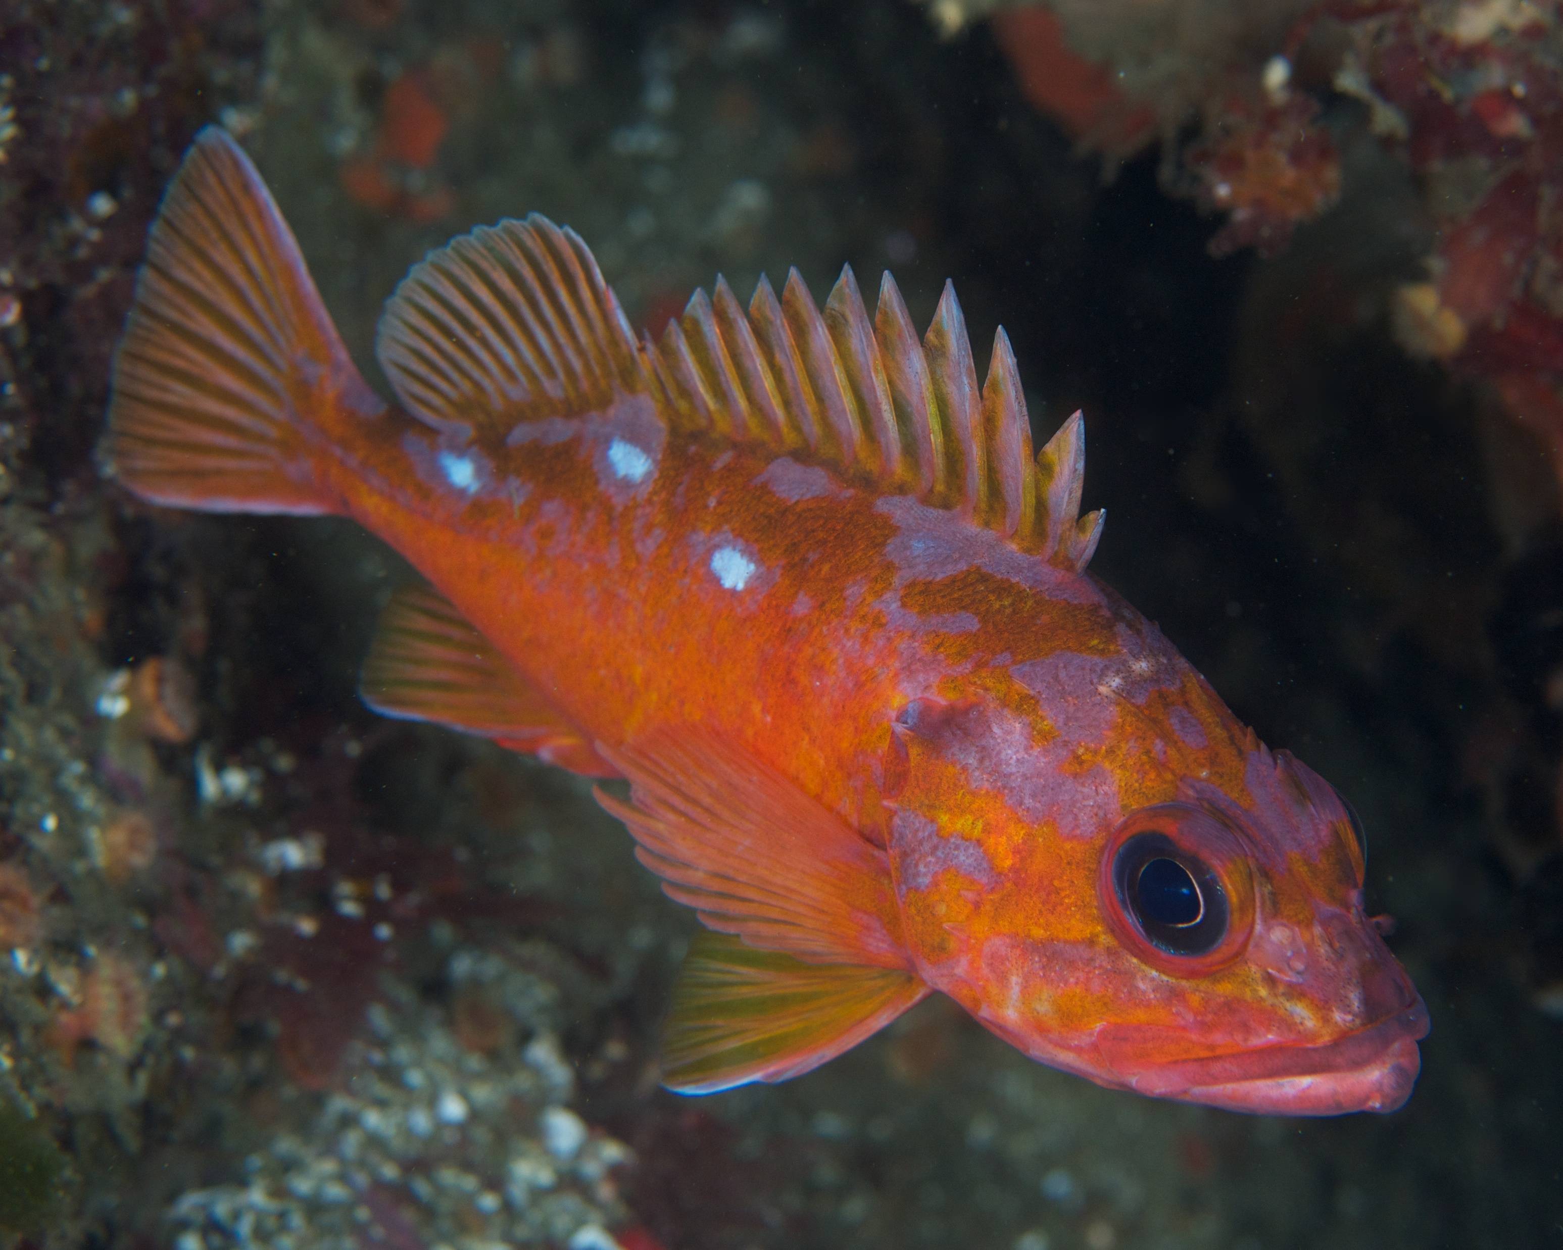
<svg viewBox="0 0 1563 1250">
<path fill-rule="evenodd" d="M 957 509 L 1060 567 L 1085 569 L 1100 533 L 1100 511 L 1080 516 L 1078 414 L 1033 459 L 1010 341 L 997 333 L 978 389 L 949 283 L 921 342 L 889 273 L 871 319 L 849 267 L 824 308 L 796 269 L 780 298 L 761 278 L 747 312 L 717 280 L 660 342 L 636 344 L 586 244 L 533 214 L 414 266 L 377 350 L 402 403 L 436 428 L 503 438 L 652 392 L 674 430 Z"/>
</svg>

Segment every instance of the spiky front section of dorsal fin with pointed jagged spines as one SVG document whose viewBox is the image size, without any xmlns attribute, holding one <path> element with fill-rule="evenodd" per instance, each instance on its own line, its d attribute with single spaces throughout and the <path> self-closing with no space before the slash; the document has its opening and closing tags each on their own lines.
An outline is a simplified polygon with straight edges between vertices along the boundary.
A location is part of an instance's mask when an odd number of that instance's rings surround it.
<svg viewBox="0 0 1563 1250">
<path fill-rule="evenodd" d="M 889 273 L 869 319 L 852 269 L 821 311 L 794 269 L 778 302 L 761 278 L 744 316 L 725 281 L 697 291 L 646 355 L 675 428 L 802 452 L 847 478 L 953 508 L 1066 569 L 1096 550 L 1102 512 L 1080 516 L 1077 412 L 1032 458 L 1008 336 L 978 391 L 953 288 L 919 344 Z"/>
</svg>

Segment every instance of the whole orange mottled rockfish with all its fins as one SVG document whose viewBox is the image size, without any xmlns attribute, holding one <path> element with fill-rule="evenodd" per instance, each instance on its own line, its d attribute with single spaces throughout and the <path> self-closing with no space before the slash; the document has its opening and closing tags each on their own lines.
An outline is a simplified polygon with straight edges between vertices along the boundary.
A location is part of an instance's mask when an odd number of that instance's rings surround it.
<svg viewBox="0 0 1563 1250">
<path fill-rule="evenodd" d="M 949 288 L 794 272 L 638 342 L 542 217 L 416 266 L 378 398 L 253 166 L 197 139 L 152 231 L 108 464 L 156 503 L 350 516 L 427 588 L 391 716 L 592 777 L 708 933 L 672 1089 L 808 1072 L 942 991 L 1099 1084 L 1388 1111 L 1427 1012 L 1363 914 L 1341 797 L 1085 566 L 1078 414 L 1033 458 L 1003 331 Z"/>
</svg>

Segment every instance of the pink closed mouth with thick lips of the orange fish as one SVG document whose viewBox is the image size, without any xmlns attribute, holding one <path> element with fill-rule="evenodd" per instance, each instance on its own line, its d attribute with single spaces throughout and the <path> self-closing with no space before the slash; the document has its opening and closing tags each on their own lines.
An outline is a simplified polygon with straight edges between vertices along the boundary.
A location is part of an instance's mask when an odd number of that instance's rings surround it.
<svg viewBox="0 0 1563 1250">
<path fill-rule="evenodd" d="M 1261 1116 L 1397 1111 L 1421 1070 L 1427 1008 L 1413 991 L 1393 1014 L 1321 1045 L 1282 1044 L 1158 1064 L 1127 1084 L 1161 1098 Z"/>
</svg>

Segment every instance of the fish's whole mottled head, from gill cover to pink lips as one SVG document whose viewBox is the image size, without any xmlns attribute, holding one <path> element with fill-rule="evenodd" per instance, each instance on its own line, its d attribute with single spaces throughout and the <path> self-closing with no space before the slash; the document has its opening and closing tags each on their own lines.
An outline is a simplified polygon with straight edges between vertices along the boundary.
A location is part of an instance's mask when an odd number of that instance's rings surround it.
<svg viewBox="0 0 1563 1250">
<path fill-rule="evenodd" d="M 971 762 L 983 739 L 993 777 L 993 761 L 1025 756 L 996 733 L 1003 717 L 930 720 L 928 759 L 947 764 L 953 744 Z M 924 975 L 1025 1053 L 1099 1084 L 1264 1114 L 1393 1111 L 1429 1022 L 1363 909 L 1357 817 L 1286 752 L 1249 731 L 1225 741 L 1229 766 L 1100 769 L 1094 794 L 1061 783 L 1064 806 L 1041 820 L 1014 786 L 957 795 L 953 773 L 941 786 L 953 820 L 903 805 L 891 853 Z"/>
</svg>

